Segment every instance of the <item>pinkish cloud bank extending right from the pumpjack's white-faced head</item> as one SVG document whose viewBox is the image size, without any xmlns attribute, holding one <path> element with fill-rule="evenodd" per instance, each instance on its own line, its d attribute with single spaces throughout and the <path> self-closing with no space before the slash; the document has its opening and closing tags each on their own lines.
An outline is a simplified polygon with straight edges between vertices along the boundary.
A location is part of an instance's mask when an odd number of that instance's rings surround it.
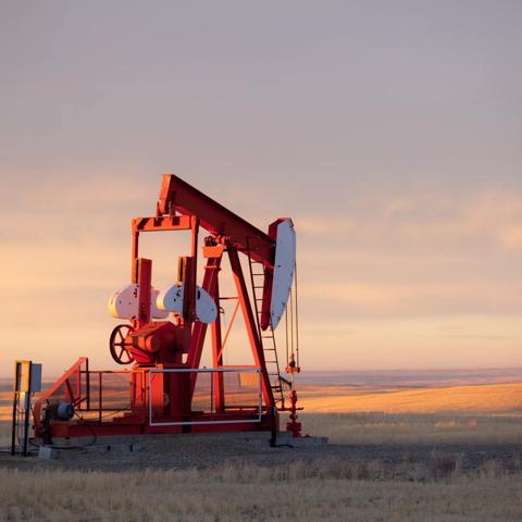
<svg viewBox="0 0 522 522">
<path fill-rule="evenodd" d="M 488 189 L 423 194 L 411 191 L 362 196 L 343 212 L 307 212 L 295 216 L 297 231 L 306 238 L 327 238 L 335 244 L 387 246 L 476 246 L 487 243 L 522 247 L 522 191 Z"/>
</svg>

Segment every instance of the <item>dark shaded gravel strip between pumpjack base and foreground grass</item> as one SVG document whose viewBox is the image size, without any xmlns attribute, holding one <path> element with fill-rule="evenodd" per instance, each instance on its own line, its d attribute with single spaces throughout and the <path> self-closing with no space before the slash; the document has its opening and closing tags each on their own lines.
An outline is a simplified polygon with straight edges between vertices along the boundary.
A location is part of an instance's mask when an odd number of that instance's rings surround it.
<svg viewBox="0 0 522 522">
<path fill-rule="evenodd" d="M 473 473 L 484 470 L 498 473 L 519 471 L 522 462 L 520 445 L 457 444 L 328 444 L 294 445 L 281 438 L 272 448 L 268 434 L 187 434 L 156 435 L 129 439 L 103 439 L 84 447 L 60 450 L 55 460 L 38 457 L 20 458 L 0 455 L 0 468 L 24 470 L 135 471 L 204 470 L 222 464 L 247 462 L 266 468 L 289 467 L 302 462 L 310 470 L 333 470 L 349 474 L 360 469 L 362 474 L 403 475 L 424 473 L 426 476 Z M 91 442 L 94 443 L 94 442 Z M 90 445 L 89 445 L 90 444 Z M 130 450 L 130 444 L 133 444 Z M 492 467 L 495 462 L 495 470 Z M 359 468 L 357 468 L 359 467 Z M 339 471 L 340 470 L 340 471 Z M 366 470 L 366 471 L 364 471 Z M 368 471 L 370 470 L 370 471 Z"/>
</svg>

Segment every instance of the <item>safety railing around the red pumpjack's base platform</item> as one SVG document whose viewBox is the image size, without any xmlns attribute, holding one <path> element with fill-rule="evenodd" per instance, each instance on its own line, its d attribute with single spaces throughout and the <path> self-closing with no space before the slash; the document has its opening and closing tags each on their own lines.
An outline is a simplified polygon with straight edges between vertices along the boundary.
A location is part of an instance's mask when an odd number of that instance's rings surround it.
<svg viewBox="0 0 522 522">
<path fill-rule="evenodd" d="M 125 414 L 148 417 L 151 426 L 261 422 L 261 370 L 89 370 L 88 359 L 80 358 L 38 395 L 33 408 L 37 435 L 42 410 L 61 402 L 73 406 L 78 421 L 98 423 Z"/>
</svg>

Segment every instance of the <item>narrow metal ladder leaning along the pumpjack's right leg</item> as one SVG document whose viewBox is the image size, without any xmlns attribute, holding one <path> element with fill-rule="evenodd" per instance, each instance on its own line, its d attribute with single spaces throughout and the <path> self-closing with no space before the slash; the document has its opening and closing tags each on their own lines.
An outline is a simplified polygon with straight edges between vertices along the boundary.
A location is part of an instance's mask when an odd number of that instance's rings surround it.
<svg viewBox="0 0 522 522">
<path fill-rule="evenodd" d="M 270 322 L 270 325 L 266 330 L 261 330 L 262 309 L 260 303 L 263 301 L 262 291 L 264 288 L 264 265 L 259 261 L 252 260 L 250 256 L 247 256 L 247 258 L 248 266 L 250 269 L 250 282 L 252 285 L 256 324 L 258 326 L 259 339 L 263 348 L 266 373 L 269 374 L 270 386 L 274 395 L 275 405 L 284 409 L 285 397 L 283 393 L 283 384 L 286 384 L 287 381 L 281 376 L 277 346 L 275 344 L 275 333 L 272 328 L 272 322 Z"/>
</svg>

